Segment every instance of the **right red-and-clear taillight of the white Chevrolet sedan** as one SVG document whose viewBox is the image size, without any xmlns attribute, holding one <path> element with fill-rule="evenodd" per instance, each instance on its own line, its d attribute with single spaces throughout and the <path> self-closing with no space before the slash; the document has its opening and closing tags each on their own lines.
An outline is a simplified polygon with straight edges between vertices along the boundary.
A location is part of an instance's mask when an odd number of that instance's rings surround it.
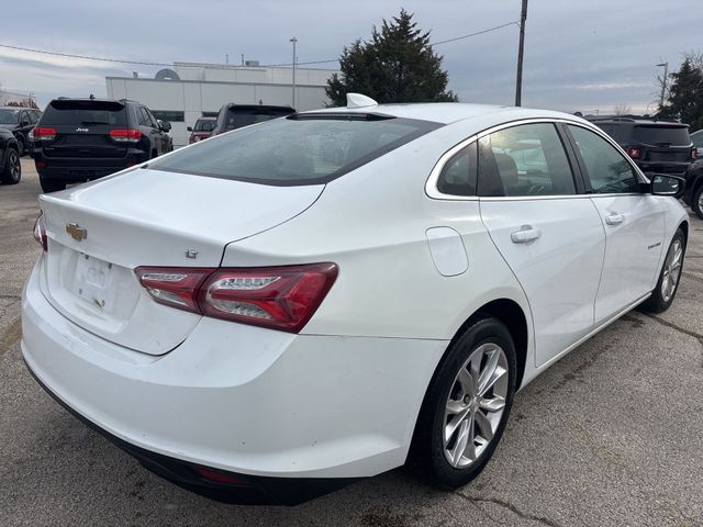
<svg viewBox="0 0 703 527">
<path fill-rule="evenodd" d="M 204 316 L 298 333 L 337 278 L 334 264 L 242 269 L 138 267 L 158 303 Z"/>
</svg>

